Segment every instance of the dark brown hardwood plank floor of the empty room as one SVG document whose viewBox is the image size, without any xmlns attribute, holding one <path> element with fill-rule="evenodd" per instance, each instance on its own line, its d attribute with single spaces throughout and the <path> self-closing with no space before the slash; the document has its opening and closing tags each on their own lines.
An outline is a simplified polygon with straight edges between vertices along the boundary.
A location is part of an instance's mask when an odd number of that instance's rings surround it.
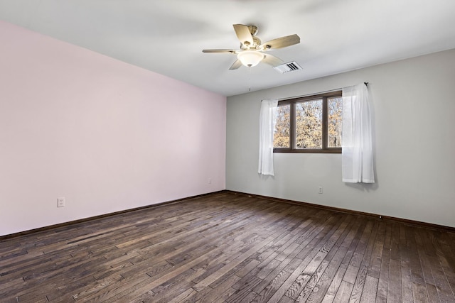
<svg viewBox="0 0 455 303">
<path fill-rule="evenodd" d="M 0 241 L 0 302 L 455 302 L 455 233 L 220 192 Z"/>
</svg>

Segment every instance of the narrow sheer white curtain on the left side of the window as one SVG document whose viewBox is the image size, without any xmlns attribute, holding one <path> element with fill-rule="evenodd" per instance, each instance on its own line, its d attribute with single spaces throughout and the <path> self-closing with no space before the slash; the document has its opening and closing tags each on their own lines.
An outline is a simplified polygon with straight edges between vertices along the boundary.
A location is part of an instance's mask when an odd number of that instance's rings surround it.
<svg viewBox="0 0 455 303">
<path fill-rule="evenodd" d="M 260 175 L 274 175 L 273 132 L 274 109 L 278 100 L 262 100 L 259 114 L 259 172 Z"/>
</svg>

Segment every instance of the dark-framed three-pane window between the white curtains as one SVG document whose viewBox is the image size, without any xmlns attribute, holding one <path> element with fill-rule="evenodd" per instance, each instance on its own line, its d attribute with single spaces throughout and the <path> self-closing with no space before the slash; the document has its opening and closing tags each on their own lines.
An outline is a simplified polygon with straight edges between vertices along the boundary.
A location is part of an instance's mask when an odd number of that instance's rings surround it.
<svg viewBox="0 0 455 303">
<path fill-rule="evenodd" d="M 341 153 L 341 91 L 282 100 L 275 110 L 275 153 Z"/>
</svg>

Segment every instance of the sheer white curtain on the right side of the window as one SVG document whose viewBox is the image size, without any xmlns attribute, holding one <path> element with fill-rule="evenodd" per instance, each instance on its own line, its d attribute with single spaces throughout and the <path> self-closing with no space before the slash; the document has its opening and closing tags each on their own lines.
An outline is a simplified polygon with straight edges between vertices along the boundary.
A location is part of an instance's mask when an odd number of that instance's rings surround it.
<svg viewBox="0 0 455 303">
<path fill-rule="evenodd" d="M 343 182 L 374 183 L 373 138 L 368 87 L 343 88 Z"/>
</svg>

